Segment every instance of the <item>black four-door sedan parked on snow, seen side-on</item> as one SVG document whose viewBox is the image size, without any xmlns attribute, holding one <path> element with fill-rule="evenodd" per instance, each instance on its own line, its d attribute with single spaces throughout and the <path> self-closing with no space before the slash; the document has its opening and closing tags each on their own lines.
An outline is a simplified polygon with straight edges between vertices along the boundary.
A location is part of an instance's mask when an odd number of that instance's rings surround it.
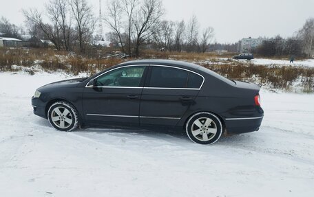
<svg viewBox="0 0 314 197">
<path fill-rule="evenodd" d="M 32 97 L 35 115 L 61 131 L 78 128 L 183 130 L 215 143 L 223 132 L 260 128 L 260 87 L 175 60 L 133 60 L 90 78 L 53 82 Z"/>
</svg>

